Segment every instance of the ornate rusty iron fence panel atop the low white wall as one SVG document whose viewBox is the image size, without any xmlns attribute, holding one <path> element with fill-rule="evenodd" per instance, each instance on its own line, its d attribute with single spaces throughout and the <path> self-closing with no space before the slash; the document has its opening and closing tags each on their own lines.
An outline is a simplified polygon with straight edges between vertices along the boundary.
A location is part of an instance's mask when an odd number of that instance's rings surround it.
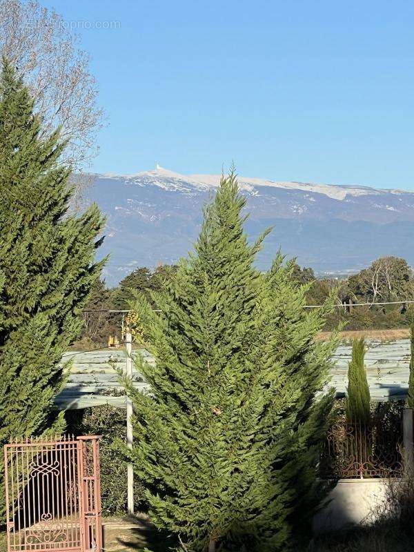
<svg viewBox="0 0 414 552">
<path fill-rule="evenodd" d="M 402 436 L 379 424 L 335 424 L 328 432 L 319 471 L 326 479 L 402 477 Z"/>
</svg>

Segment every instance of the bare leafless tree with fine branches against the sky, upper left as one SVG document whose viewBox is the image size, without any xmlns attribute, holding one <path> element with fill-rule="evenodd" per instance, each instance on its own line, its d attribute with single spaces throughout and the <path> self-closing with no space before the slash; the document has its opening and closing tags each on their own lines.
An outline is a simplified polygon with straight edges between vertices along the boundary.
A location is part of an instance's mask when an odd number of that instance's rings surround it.
<svg viewBox="0 0 414 552">
<path fill-rule="evenodd" d="M 68 142 L 63 161 L 77 171 L 88 167 L 97 153 L 103 111 L 79 37 L 35 0 L 0 0 L 0 55 L 23 75 L 43 117 L 43 132 L 61 127 Z M 77 193 L 87 182 L 77 179 Z"/>
</svg>

